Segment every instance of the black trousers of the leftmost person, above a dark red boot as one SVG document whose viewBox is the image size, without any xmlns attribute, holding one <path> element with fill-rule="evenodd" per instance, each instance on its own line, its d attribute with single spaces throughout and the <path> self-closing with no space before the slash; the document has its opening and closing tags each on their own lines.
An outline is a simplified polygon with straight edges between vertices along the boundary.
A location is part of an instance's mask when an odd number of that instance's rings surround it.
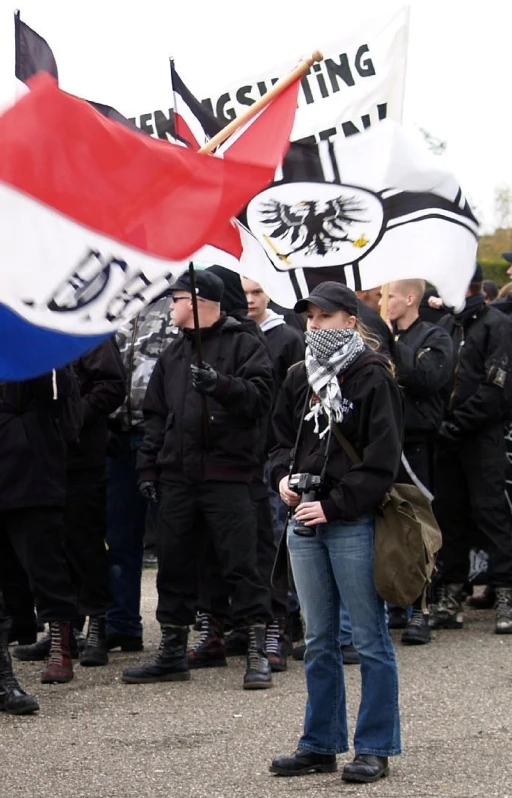
<svg viewBox="0 0 512 798">
<path fill-rule="evenodd" d="M 4 563 L 11 562 L 13 568 L 16 560 L 21 564 L 40 621 L 71 621 L 77 617 L 77 599 L 64 548 L 64 514 L 60 507 L 2 510 L 0 559 Z"/>
</svg>

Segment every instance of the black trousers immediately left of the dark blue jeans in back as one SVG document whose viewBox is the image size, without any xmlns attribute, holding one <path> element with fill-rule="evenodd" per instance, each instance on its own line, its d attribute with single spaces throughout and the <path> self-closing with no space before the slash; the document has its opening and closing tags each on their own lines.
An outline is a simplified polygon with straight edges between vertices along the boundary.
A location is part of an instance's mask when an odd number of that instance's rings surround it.
<svg viewBox="0 0 512 798">
<path fill-rule="evenodd" d="M 104 615 L 111 602 L 104 469 L 68 473 L 64 521 L 66 554 L 80 615 Z"/>
</svg>

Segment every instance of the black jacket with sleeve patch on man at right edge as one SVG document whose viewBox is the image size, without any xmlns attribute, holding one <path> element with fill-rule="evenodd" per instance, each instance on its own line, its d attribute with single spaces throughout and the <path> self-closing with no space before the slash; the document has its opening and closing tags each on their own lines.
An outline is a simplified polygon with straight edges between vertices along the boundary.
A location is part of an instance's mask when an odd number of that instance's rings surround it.
<svg viewBox="0 0 512 798">
<path fill-rule="evenodd" d="M 447 418 L 467 433 L 508 418 L 512 368 L 509 318 L 486 305 L 483 296 L 471 299 L 477 301 L 463 314 L 447 315 L 441 321 L 455 353 Z"/>
</svg>

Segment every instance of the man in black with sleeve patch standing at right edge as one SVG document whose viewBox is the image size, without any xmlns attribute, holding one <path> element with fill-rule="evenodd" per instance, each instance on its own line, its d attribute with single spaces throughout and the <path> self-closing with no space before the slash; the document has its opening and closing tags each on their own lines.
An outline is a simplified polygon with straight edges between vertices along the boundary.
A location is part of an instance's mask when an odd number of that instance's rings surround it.
<svg viewBox="0 0 512 798">
<path fill-rule="evenodd" d="M 462 627 L 462 595 L 475 539 L 489 552 L 497 634 L 512 634 L 512 530 L 505 499 L 504 422 L 510 411 L 511 327 L 482 294 L 475 270 L 464 310 L 445 316 L 455 376 L 439 430 L 434 510 L 443 533 L 431 625 Z"/>
</svg>

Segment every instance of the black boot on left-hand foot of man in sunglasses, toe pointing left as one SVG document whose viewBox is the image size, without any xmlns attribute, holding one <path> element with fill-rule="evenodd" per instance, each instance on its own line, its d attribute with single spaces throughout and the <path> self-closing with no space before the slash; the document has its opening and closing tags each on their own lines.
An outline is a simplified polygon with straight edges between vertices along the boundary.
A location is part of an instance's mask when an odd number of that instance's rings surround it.
<svg viewBox="0 0 512 798">
<path fill-rule="evenodd" d="M 123 671 L 123 682 L 186 682 L 190 679 L 187 659 L 188 626 L 162 626 L 162 639 L 156 657 L 139 668 Z"/>
</svg>

